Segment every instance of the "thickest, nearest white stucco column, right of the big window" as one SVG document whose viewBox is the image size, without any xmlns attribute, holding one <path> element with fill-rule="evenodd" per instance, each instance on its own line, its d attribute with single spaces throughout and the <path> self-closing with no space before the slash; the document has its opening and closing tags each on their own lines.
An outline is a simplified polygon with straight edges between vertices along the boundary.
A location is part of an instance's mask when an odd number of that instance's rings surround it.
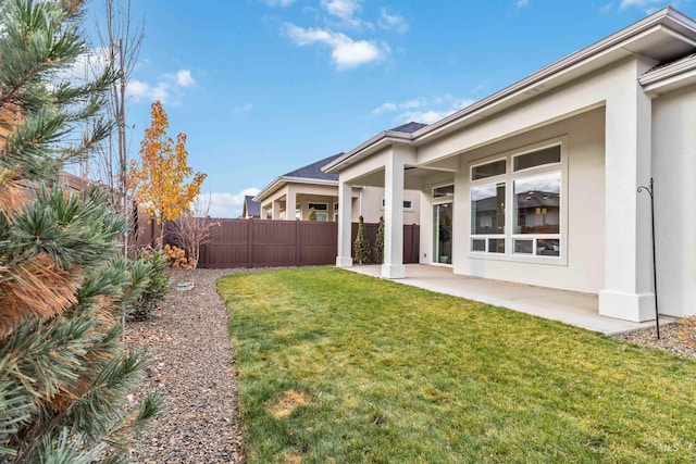
<svg viewBox="0 0 696 464">
<path fill-rule="evenodd" d="M 605 288 L 599 314 L 629 321 L 655 318 L 650 198 L 636 189 L 650 179 L 651 101 L 637 76 L 654 65 L 636 62 L 635 74 L 607 99 L 605 154 Z"/>
</svg>

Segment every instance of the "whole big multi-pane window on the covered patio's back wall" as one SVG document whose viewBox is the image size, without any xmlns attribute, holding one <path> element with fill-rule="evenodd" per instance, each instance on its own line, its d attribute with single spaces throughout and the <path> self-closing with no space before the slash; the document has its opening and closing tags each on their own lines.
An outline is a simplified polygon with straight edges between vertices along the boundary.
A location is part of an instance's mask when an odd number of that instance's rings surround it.
<svg viewBox="0 0 696 464">
<path fill-rule="evenodd" d="M 562 255 L 561 149 L 556 142 L 471 167 L 472 253 Z"/>
</svg>

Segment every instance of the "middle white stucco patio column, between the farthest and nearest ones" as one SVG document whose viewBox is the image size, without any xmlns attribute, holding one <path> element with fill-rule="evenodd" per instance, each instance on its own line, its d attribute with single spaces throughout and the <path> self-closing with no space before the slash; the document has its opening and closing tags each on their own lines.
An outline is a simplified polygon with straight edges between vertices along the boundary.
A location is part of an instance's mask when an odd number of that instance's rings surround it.
<svg viewBox="0 0 696 464">
<path fill-rule="evenodd" d="M 384 264 L 382 277 L 403 278 L 403 167 L 405 156 L 391 148 L 384 166 Z"/>
</svg>

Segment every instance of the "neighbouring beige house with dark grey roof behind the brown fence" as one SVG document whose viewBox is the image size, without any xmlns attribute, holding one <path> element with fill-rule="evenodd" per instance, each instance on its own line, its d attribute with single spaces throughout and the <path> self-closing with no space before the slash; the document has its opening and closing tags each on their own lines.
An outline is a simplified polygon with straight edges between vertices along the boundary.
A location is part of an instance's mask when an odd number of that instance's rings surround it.
<svg viewBox="0 0 696 464">
<path fill-rule="evenodd" d="M 409 123 L 396 127 L 403 134 L 412 133 L 425 124 Z M 316 221 L 335 222 L 338 218 L 338 175 L 324 173 L 322 166 L 332 163 L 344 153 L 319 160 L 276 177 L 264 187 L 253 201 L 260 204 L 260 215 L 264 220 L 308 221 L 310 210 L 314 210 Z M 420 221 L 420 192 L 406 191 L 402 198 L 403 224 Z M 288 204 L 295 208 L 289 210 Z M 384 215 L 384 188 L 356 185 L 350 192 L 350 221 L 358 222 L 360 215 L 366 223 L 377 223 Z"/>
</svg>

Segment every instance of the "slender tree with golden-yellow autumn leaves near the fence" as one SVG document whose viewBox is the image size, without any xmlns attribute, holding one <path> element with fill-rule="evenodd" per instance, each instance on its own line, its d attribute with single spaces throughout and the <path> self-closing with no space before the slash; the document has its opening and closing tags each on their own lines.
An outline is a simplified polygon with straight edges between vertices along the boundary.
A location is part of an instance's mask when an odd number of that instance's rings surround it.
<svg viewBox="0 0 696 464">
<path fill-rule="evenodd" d="M 176 143 L 167 137 L 170 123 L 162 103 L 152 103 L 150 114 L 152 123 L 145 129 L 140 143 L 140 163 L 130 161 L 128 187 L 140 210 L 162 226 L 158 244 L 161 247 L 164 225 L 189 209 L 200 193 L 206 174 L 194 174 L 188 165 L 186 134 L 179 134 Z M 188 178 L 191 180 L 186 184 Z"/>
</svg>

